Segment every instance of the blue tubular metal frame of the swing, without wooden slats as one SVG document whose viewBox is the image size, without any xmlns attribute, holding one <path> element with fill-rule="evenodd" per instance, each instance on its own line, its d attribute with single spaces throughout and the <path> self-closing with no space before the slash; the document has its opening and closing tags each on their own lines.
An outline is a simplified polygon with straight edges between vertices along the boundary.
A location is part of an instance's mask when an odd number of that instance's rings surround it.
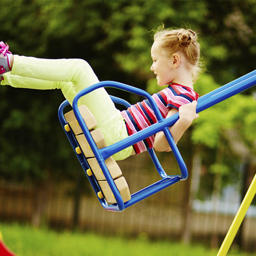
<svg viewBox="0 0 256 256">
<path fill-rule="evenodd" d="M 240 93 L 250 87 L 253 87 L 256 84 L 256 70 L 254 70 L 251 73 L 248 73 L 245 76 L 240 77 L 239 79 L 236 79 L 226 85 L 223 85 L 222 87 L 219 87 L 216 90 L 213 90 L 210 93 L 207 93 L 204 96 L 201 96 L 198 99 L 198 105 L 197 105 L 197 113 L 225 100 L 230 98 L 231 96 L 236 95 L 237 93 Z M 125 138 L 124 140 L 121 140 L 117 143 L 114 143 L 112 145 L 109 145 L 105 148 L 101 148 L 98 149 L 96 147 L 95 142 L 93 141 L 91 135 L 90 135 L 90 131 L 88 130 L 84 119 L 81 116 L 81 113 L 79 112 L 78 109 L 78 100 L 80 99 L 81 96 L 84 96 L 87 93 L 90 93 L 93 90 L 96 90 L 100 87 L 113 87 L 113 88 L 117 88 L 120 90 L 125 90 L 127 92 L 130 93 L 135 93 L 138 94 L 140 96 L 145 97 L 146 99 L 148 99 L 148 102 L 151 105 L 151 108 L 153 109 L 156 117 L 157 117 L 157 123 L 149 126 L 148 128 L 145 128 L 142 131 L 137 132 L 136 134 L 133 134 L 127 138 Z M 111 99 L 113 102 L 118 103 L 118 104 L 122 104 L 125 107 L 129 107 L 130 104 L 120 98 L 111 96 Z M 64 101 L 58 110 L 58 117 L 59 120 L 61 122 L 62 127 L 64 128 L 64 126 L 67 124 L 65 118 L 64 118 L 64 108 L 69 105 L 68 101 Z M 180 152 L 174 142 L 174 140 L 172 139 L 172 135 L 169 131 L 169 127 L 172 126 L 175 122 L 177 122 L 179 116 L 178 113 L 170 116 L 169 118 L 164 119 L 163 116 L 161 115 L 159 109 L 157 108 L 156 103 L 154 102 L 153 98 L 151 97 L 151 95 L 147 92 L 145 92 L 144 90 L 141 90 L 139 88 L 136 87 L 132 87 L 130 85 L 127 84 L 122 84 L 119 82 L 115 82 L 115 81 L 102 81 L 99 82 L 97 84 L 94 84 L 90 87 L 85 88 L 84 90 L 81 90 L 74 98 L 73 100 L 73 111 L 74 114 L 76 116 L 76 119 L 79 122 L 79 125 L 81 126 L 81 130 L 83 131 L 89 145 L 90 148 L 92 149 L 96 160 L 99 163 L 99 166 L 102 169 L 103 174 L 106 177 L 106 180 L 108 181 L 109 186 L 111 187 L 111 190 L 113 192 L 113 195 L 116 199 L 116 204 L 112 204 L 109 205 L 104 198 L 98 198 L 100 203 L 102 204 L 102 206 L 110 211 L 119 211 L 122 212 L 125 208 L 130 207 L 133 204 L 136 204 L 139 201 L 142 201 L 143 199 L 165 189 L 168 186 L 171 186 L 174 183 L 177 183 L 180 180 L 186 180 L 186 178 L 188 177 L 188 171 L 186 168 L 186 164 L 184 163 L 183 158 L 180 155 Z M 64 129 L 65 131 L 65 129 Z M 130 145 L 134 145 L 135 143 L 144 140 L 147 137 L 150 137 L 153 134 L 156 134 L 159 131 L 163 131 L 169 145 L 172 148 L 172 152 L 177 160 L 178 166 L 180 167 L 180 175 L 167 175 L 166 172 L 163 170 L 163 167 L 161 166 L 154 150 L 151 148 L 148 150 L 148 153 L 151 156 L 151 159 L 154 163 L 154 166 L 157 169 L 157 172 L 159 173 L 161 179 L 159 181 L 157 181 L 156 183 L 151 184 L 150 186 L 145 187 L 144 189 L 141 189 L 138 192 L 135 192 L 134 194 L 131 195 L 131 199 L 127 202 L 124 203 L 124 201 L 122 200 L 122 197 L 118 191 L 118 189 L 116 188 L 116 185 L 110 175 L 110 173 L 108 172 L 107 166 L 105 165 L 105 159 L 107 159 L 108 157 L 110 157 L 111 155 L 115 154 L 116 152 L 121 151 L 124 148 L 127 148 Z M 76 141 L 76 137 L 74 136 L 72 131 L 65 131 L 70 144 L 72 145 L 74 151 L 76 152 L 75 148 L 79 146 L 78 142 Z M 87 159 L 84 156 L 83 153 L 81 154 L 77 154 L 77 157 L 81 163 L 81 166 L 83 167 L 86 175 L 87 172 L 86 170 L 90 168 L 89 164 L 87 163 Z M 100 190 L 99 184 L 96 180 L 96 178 L 94 177 L 94 175 L 89 176 L 87 175 L 91 186 L 93 187 L 94 192 L 97 193 Z"/>
</svg>

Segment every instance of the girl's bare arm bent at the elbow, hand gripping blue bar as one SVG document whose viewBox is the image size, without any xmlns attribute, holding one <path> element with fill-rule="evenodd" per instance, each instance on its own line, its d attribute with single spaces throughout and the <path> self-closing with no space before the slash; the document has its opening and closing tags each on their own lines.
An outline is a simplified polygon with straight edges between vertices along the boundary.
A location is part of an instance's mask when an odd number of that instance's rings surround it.
<svg viewBox="0 0 256 256">
<path fill-rule="evenodd" d="M 176 108 L 172 108 L 167 114 L 166 118 L 174 115 L 179 112 L 179 119 L 175 122 L 172 127 L 169 128 L 169 131 L 172 134 L 173 140 L 177 144 L 180 140 L 184 132 L 187 128 L 192 124 L 193 120 L 198 118 L 199 115 L 195 112 L 197 106 L 197 102 L 193 101 L 189 104 L 185 104 L 177 110 Z M 163 131 L 160 131 L 156 134 L 154 141 L 154 149 L 156 151 L 171 151 L 170 145 L 166 140 L 166 137 Z"/>
</svg>

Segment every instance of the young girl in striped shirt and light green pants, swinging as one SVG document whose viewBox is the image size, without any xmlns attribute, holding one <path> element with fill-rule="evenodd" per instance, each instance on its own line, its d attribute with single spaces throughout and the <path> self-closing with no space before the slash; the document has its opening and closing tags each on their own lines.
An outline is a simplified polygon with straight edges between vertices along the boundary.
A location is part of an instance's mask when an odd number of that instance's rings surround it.
<svg viewBox="0 0 256 256">
<path fill-rule="evenodd" d="M 1 85 L 31 89 L 61 89 L 72 105 L 76 94 L 82 89 L 99 82 L 90 65 L 81 59 L 40 59 L 12 55 L 9 46 L 0 42 Z M 150 68 L 156 75 L 157 84 L 168 87 L 153 95 L 153 99 L 164 118 L 179 112 L 179 119 L 170 127 L 175 143 L 192 121 L 198 118 L 193 90 L 199 70 L 200 48 L 195 32 L 188 29 L 158 29 L 151 47 L 153 64 Z M 95 116 L 107 145 L 120 141 L 157 122 L 148 101 L 138 102 L 128 110 L 115 108 L 104 88 L 99 88 L 79 99 Z M 122 160 L 131 154 L 141 153 L 154 147 L 156 151 L 170 151 L 163 132 L 113 155 Z"/>
</svg>

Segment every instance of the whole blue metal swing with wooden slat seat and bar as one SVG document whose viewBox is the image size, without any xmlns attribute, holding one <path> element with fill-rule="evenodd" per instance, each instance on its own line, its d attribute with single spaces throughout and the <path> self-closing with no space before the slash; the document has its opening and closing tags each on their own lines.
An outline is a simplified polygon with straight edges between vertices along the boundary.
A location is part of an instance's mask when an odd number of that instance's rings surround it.
<svg viewBox="0 0 256 256">
<path fill-rule="evenodd" d="M 197 113 L 228 99 L 255 84 L 256 70 L 200 97 L 198 99 Z M 86 106 L 78 107 L 77 105 L 81 96 L 100 87 L 114 87 L 145 97 L 148 99 L 148 102 L 156 115 L 157 122 L 128 138 L 106 146 L 100 131 L 97 131 L 98 129 L 93 129 L 96 127 L 96 120 L 94 117 L 88 112 Z M 111 96 L 111 99 L 114 103 L 122 104 L 126 108 L 131 106 L 123 99 L 114 96 Z M 67 105 L 69 105 L 67 100 L 60 105 L 58 110 L 59 120 L 94 192 L 105 209 L 121 212 L 125 208 L 142 201 L 180 180 L 186 180 L 188 177 L 186 165 L 169 131 L 169 127 L 178 120 L 178 113 L 164 119 L 151 95 L 144 90 L 119 82 L 102 81 L 81 90 L 73 100 L 73 111 L 64 115 L 64 108 Z M 167 175 L 154 153 L 154 150 L 150 148 L 148 149 L 148 153 L 161 179 L 130 195 L 125 177 L 121 176 L 122 171 L 111 156 L 141 140 L 145 140 L 145 138 L 148 138 L 159 131 L 164 132 L 166 139 L 172 148 L 172 153 L 180 167 L 180 175 Z"/>
</svg>

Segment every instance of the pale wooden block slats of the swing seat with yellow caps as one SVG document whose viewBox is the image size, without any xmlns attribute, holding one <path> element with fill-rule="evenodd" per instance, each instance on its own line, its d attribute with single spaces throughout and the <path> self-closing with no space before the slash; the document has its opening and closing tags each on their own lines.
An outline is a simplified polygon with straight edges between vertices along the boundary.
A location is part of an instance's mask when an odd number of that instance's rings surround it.
<svg viewBox="0 0 256 256">
<path fill-rule="evenodd" d="M 93 114 L 85 105 L 81 105 L 78 109 L 81 113 L 84 123 L 86 124 L 88 130 L 90 131 L 90 135 L 94 143 L 96 144 L 97 148 L 100 149 L 100 148 L 106 147 L 107 145 L 105 143 L 105 139 L 102 134 L 102 131 L 100 129 L 93 130 L 93 128 L 95 128 L 97 125 L 97 121 L 94 118 Z M 113 196 L 110 186 L 108 185 L 106 177 L 103 174 L 102 169 L 100 168 L 99 163 L 97 162 L 95 155 L 93 154 L 93 151 L 90 148 L 90 145 L 86 137 L 84 136 L 79 123 L 76 120 L 76 116 L 74 112 L 69 111 L 68 113 L 65 113 L 64 118 L 67 121 L 67 124 L 64 126 L 65 130 L 67 132 L 71 132 L 72 130 L 74 136 L 76 137 L 76 141 L 79 144 L 79 146 L 75 148 L 76 153 L 83 154 L 83 157 L 87 160 L 87 164 L 89 167 L 86 170 L 87 175 L 94 176 L 96 179 L 95 180 L 96 183 L 99 184 L 99 188 L 101 189 L 101 191 L 97 193 L 98 197 L 100 199 L 105 198 L 108 204 L 116 203 L 116 200 Z M 128 188 L 128 184 L 125 178 L 121 177 L 122 171 L 119 168 L 116 161 L 113 159 L 113 157 L 108 157 L 105 160 L 105 165 L 108 169 L 108 172 L 111 175 L 111 178 L 113 179 L 116 185 L 118 192 L 122 197 L 122 200 L 124 202 L 130 200 L 131 194 Z"/>
</svg>

